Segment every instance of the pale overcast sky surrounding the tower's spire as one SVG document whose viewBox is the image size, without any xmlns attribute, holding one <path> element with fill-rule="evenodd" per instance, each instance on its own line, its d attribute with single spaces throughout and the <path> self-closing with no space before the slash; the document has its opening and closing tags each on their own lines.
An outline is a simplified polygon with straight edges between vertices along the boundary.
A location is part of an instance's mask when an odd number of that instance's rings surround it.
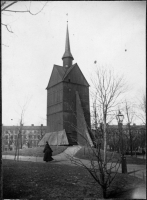
<svg viewBox="0 0 147 200">
<path fill-rule="evenodd" d="M 11 9 L 36 13 L 44 4 L 18 2 Z M 17 125 L 23 108 L 24 125 L 46 125 L 46 87 L 53 65 L 62 66 L 67 20 L 73 63 L 90 85 L 95 68 L 105 66 L 125 76 L 129 101 L 145 92 L 145 1 L 49 1 L 37 15 L 2 14 L 13 31 L 2 27 L 3 125 Z"/>
</svg>

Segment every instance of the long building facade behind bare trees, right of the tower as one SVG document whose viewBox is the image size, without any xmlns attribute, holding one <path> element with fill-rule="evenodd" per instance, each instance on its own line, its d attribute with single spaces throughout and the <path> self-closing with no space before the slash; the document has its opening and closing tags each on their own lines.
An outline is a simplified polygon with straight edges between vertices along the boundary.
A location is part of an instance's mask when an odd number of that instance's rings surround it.
<svg viewBox="0 0 147 200">
<path fill-rule="evenodd" d="M 95 141 L 103 148 L 103 124 L 96 130 L 93 129 Z M 145 125 L 123 125 L 122 139 L 124 152 L 136 151 L 139 148 L 146 149 L 146 126 Z M 121 134 L 118 125 L 107 124 L 107 149 L 120 152 Z"/>
</svg>

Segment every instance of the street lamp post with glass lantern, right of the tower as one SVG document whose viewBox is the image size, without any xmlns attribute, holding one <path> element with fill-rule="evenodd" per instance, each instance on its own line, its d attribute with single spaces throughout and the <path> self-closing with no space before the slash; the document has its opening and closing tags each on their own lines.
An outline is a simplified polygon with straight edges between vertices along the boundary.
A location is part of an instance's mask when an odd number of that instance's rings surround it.
<svg viewBox="0 0 147 200">
<path fill-rule="evenodd" d="M 116 119 L 118 121 L 118 129 L 120 132 L 121 137 L 121 166 L 122 166 L 122 173 L 127 173 L 127 163 L 126 163 L 126 157 L 124 156 L 124 146 L 123 146 L 123 136 L 122 136 L 122 123 L 124 119 L 124 115 L 121 114 L 120 110 L 118 112 L 118 115 L 116 116 Z"/>
</svg>

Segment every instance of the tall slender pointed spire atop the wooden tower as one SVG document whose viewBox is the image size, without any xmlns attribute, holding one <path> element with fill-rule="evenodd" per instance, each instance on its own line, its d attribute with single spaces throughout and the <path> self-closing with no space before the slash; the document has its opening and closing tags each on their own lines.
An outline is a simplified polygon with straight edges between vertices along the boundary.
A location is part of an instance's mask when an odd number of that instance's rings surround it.
<svg viewBox="0 0 147 200">
<path fill-rule="evenodd" d="M 66 32 L 65 53 L 62 57 L 62 60 L 63 60 L 64 67 L 70 67 L 72 65 L 72 60 L 74 60 L 74 58 L 70 52 L 68 24 L 67 24 L 67 32 Z"/>
</svg>

